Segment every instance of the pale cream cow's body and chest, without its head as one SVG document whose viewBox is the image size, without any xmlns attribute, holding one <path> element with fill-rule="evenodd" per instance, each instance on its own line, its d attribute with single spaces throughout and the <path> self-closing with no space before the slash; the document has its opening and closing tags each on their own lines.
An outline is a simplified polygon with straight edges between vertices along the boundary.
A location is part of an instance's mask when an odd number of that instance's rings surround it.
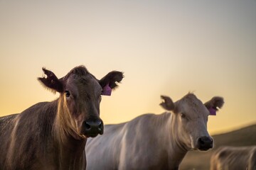
<svg viewBox="0 0 256 170">
<path fill-rule="evenodd" d="M 87 169 L 178 168 L 187 150 L 170 141 L 172 132 L 167 123 L 171 117 L 170 113 L 146 114 L 127 123 L 105 125 L 104 136 L 87 142 Z M 161 133 L 167 129 L 169 134 Z M 97 154 L 92 153 L 95 146 Z"/>
</svg>

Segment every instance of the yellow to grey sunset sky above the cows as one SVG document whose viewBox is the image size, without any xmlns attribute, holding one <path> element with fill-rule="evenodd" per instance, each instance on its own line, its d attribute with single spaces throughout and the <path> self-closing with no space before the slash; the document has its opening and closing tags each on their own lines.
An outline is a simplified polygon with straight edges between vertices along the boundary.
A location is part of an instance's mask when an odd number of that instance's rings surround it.
<svg viewBox="0 0 256 170">
<path fill-rule="evenodd" d="M 53 101 L 41 67 L 63 77 L 78 65 L 125 78 L 103 96 L 105 124 L 160 114 L 160 95 L 206 102 L 213 135 L 256 123 L 256 1 L 0 0 L 0 115 Z"/>
</svg>

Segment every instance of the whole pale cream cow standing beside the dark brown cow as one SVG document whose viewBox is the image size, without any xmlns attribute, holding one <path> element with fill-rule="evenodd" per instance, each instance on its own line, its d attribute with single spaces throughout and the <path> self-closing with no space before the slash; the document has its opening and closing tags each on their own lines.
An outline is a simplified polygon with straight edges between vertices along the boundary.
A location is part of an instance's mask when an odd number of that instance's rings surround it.
<svg viewBox="0 0 256 170">
<path fill-rule="evenodd" d="M 178 169 L 189 150 L 213 147 L 207 131 L 208 109 L 217 111 L 223 98 L 214 97 L 206 105 L 194 94 L 176 103 L 167 96 L 161 98 L 161 106 L 172 113 L 145 114 L 127 123 L 105 125 L 104 135 L 89 139 L 87 169 Z"/>
</svg>

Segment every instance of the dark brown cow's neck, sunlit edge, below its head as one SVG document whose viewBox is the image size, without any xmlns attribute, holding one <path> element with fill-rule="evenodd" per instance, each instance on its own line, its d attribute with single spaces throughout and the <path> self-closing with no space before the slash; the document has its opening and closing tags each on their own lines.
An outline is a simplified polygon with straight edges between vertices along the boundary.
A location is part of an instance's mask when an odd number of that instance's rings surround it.
<svg viewBox="0 0 256 170">
<path fill-rule="evenodd" d="M 55 144 L 58 148 L 60 169 L 82 169 L 85 166 L 86 138 L 77 134 L 73 128 L 70 115 L 58 101 L 58 111 L 55 120 Z"/>
</svg>

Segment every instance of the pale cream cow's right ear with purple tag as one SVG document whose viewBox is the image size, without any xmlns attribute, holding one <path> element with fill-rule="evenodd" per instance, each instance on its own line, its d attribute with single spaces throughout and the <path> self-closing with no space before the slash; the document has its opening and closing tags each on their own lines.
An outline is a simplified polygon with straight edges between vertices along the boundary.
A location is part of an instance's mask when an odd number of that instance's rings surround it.
<svg viewBox="0 0 256 170">
<path fill-rule="evenodd" d="M 210 115 L 216 115 L 216 111 L 218 111 L 218 108 L 222 108 L 224 104 L 223 97 L 215 96 L 210 101 L 207 101 L 204 103 L 206 108 L 208 108 L 208 111 L 210 111 Z"/>
</svg>

